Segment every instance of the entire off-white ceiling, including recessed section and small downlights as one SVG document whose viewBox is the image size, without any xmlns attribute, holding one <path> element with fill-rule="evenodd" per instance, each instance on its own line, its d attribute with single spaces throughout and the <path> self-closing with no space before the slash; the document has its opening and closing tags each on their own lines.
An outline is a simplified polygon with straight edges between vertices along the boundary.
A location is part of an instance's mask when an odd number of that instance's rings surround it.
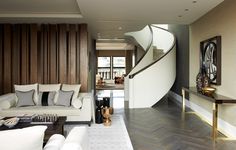
<svg viewBox="0 0 236 150">
<path fill-rule="evenodd" d="M 2 23 L 88 23 L 96 39 L 147 24 L 190 24 L 223 0 L 1 0 Z"/>
</svg>

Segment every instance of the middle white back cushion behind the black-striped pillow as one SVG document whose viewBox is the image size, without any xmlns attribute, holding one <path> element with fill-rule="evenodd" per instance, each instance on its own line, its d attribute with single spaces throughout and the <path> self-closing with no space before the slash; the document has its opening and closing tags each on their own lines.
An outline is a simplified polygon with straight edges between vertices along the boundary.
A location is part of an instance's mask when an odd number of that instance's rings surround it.
<svg viewBox="0 0 236 150">
<path fill-rule="evenodd" d="M 58 91 L 61 88 L 61 84 L 39 84 L 39 92 L 56 92 L 54 97 L 54 103 L 56 103 L 58 98 Z"/>
</svg>

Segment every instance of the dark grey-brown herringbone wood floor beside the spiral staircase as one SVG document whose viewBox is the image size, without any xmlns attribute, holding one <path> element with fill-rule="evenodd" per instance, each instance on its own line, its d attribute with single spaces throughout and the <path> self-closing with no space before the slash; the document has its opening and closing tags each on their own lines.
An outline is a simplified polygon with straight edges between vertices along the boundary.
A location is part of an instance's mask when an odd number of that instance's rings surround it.
<svg viewBox="0 0 236 150">
<path fill-rule="evenodd" d="M 190 110 L 191 111 L 191 110 Z M 134 150 L 234 150 L 236 141 L 211 139 L 211 126 L 164 98 L 153 108 L 119 109 Z M 222 136 L 222 135 L 221 135 Z"/>
</svg>

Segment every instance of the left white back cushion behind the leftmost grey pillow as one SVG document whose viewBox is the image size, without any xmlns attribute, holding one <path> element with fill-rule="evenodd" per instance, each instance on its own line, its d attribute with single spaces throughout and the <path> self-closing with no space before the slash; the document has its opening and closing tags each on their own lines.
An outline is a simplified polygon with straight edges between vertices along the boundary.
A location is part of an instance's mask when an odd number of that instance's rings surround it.
<svg viewBox="0 0 236 150">
<path fill-rule="evenodd" d="M 30 90 L 34 90 L 34 103 L 37 104 L 38 102 L 38 84 L 26 84 L 26 85 L 14 85 L 15 87 L 15 91 L 30 91 Z M 16 100 L 18 101 L 18 99 Z"/>
</svg>

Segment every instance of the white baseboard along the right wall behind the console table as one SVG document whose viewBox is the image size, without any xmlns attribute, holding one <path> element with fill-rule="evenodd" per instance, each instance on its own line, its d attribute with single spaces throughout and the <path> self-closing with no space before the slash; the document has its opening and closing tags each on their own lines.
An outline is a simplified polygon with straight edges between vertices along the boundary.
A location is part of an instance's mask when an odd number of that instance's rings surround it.
<svg viewBox="0 0 236 150">
<path fill-rule="evenodd" d="M 182 96 L 170 91 L 169 96 L 177 100 L 178 103 L 182 103 Z M 212 125 L 212 113 L 209 113 L 204 108 L 196 105 L 195 103 L 185 99 L 186 107 L 191 108 L 208 124 Z M 229 138 L 236 138 L 236 127 L 230 123 L 218 118 L 218 130 Z"/>
</svg>

